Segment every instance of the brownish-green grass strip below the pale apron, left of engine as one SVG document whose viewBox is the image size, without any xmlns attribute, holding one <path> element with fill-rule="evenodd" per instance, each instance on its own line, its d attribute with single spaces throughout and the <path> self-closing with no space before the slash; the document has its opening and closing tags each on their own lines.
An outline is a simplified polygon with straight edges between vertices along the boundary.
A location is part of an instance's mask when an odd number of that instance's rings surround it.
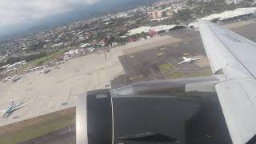
<svg viewBox="0 0 256 144">
<path fill-rule="evenodd" d="M 66 128 L 75 124 L 75 115 L 67 114 L 59 117 L 46 118 L 43 122 L 38 122 L 31 126 L 25 126 L 20 130 L 0 135 L 1 144 L 14 144 L 37 138 L 44 134 Z"/>
</svg>

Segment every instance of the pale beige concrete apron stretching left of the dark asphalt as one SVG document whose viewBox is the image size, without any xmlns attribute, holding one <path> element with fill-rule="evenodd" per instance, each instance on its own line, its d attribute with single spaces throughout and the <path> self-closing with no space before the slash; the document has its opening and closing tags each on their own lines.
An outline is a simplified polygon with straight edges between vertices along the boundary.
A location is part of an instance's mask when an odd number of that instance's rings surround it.
<svg viewBox="0 0 256 144">
<path fill-rule="evenodd" d="M 151 38 L 149 42 L 159 43 L 162 38 L 171 37 Z M 0 82 L 0 110 L 6 109 L 10 98 L 18 98 L 15 102 L 27 103 L 8 118 L 0 118 L 0 126 L 75 106 L 79 94 L 106 88 L 110 80 L 125 74 L 118 57 L 123 50 L 136 48 L 134 45 L 141 46 L 141 42 L 118 46 L 106 53 L 106 59 L 104 54 L 89 54 L 74 58 L 48 74 L 34 71 L 24 74 L 14 83 Z M 68 105 L 62 106 L 63 102 Z"/>
</svg>

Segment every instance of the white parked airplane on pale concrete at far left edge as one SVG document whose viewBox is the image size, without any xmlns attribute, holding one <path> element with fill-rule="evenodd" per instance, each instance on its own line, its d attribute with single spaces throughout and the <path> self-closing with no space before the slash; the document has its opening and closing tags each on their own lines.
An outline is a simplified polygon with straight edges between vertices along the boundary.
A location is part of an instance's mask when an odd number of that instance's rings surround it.
<svg viewBox="0 0 256 144">
<path fill-rule="evenodd" d="M 10 105 L 7 107 L 6 110 L 0 110 L 2 112 L 1 118 L 7 118 L 10 114 L 12 114 L 15 110 L 21 109 L 22 107 L 26 106 L 24 102 L 14 103 L 14 99 L 10 100 Z"/>
</svg>

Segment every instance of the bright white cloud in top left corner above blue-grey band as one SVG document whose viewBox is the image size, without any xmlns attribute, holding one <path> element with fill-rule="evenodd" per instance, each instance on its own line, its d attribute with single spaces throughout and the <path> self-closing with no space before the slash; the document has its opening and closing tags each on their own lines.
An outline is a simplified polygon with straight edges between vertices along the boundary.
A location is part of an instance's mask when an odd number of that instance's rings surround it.
<svg viewBox="0 0 256 144">
<path fill-rule="evenodd" d="M 98 0 L 0 0 L 0 28 L 70 12 L 95 2 Z"/>
</svg>

